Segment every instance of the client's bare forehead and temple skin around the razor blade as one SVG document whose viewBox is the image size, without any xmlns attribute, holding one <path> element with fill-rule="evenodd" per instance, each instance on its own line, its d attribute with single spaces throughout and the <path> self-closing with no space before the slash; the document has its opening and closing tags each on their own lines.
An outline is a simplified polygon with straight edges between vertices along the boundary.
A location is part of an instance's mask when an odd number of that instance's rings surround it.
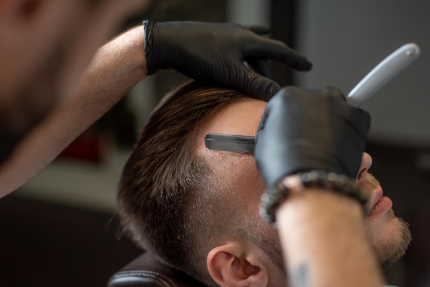
<svg viewBox="0 0 430 287">
<path fill-rule="evenodd" d="M 220 180 L 237 194 L 245 192 L 247 200 L 255 203 L 256 210 L 265 185 L 260 178 L 253 154 L 246 152 L 227 152 L 210 150 L 205 146 L 207 133 L 229 135 L 256 134 L 260 119 L 267 102 L 251 97 L 242 97 L 214 114 L 207 124 L 201 128 L 198 140 L 198 150 L 214 168 L 214 181 Z M 256 200 L 256 201 L 255 201 Z M 255 201 L 255 202 L 254 202 Z M 256 211 L 258 214 L 258 211 Z"/>
</svg>

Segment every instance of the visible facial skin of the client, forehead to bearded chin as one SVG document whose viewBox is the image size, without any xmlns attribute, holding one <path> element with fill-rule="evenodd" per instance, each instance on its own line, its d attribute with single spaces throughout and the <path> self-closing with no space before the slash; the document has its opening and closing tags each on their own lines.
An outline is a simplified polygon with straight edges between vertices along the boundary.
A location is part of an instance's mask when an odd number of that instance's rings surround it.
<svg viewBox="0 0 430 287">
<path fill-rule="evenodd" d="M 266 106 L 266 102 L 251 98 L 242 98 L 223 108 L 216 113 L 210 122 L 202 128 L 199 142 L 199 150 L 206 152 L 212 161 L 212 166 L 220 178 L 229 181 L 232 193 L 240 194 L 243 206 L 247 207 L 247 212 L 256 218 L 256 228 L 273 238 L 273 249 L 280 249 L 278 233 L 267 225 L 258 214 L 260 197 L 266 191 L 266 187 L 258 173 L 253 155 L 250 153 L 225 152 L 219 150 L 207 150 L 203 138 L 206 133 L 224 133 L 230 135 L 255 135 L 261 115 Z M 368 172 L 372 165 L 372 158 L 369 154 L 363 153 L 361 169 L 357 176 L 359 185 L 371 195 L 370 208 L 372 213 L 366 220 L 367 230 L 372 238 L 376 255 L 382 265 L 394 262 L 405 253 L 410 241 L 409 229 L 407 225 L 394 216 L 391 209 L 392 202 L 387 197 L 382 196 L 382 189 L 379 183 Z M 269 264 L 273 270 L 273 276 L 282 277 L 282 255 L 280 258 L 273 258 L 273 254 L 281 254 L 275 251 L 268 254 Z M 281 265 L 281 266 L 280 266 Z M 274 281 L 277 282 L 277 281 Z M 283 282 L 278 281 L 278 282 Z"/>
</svg>

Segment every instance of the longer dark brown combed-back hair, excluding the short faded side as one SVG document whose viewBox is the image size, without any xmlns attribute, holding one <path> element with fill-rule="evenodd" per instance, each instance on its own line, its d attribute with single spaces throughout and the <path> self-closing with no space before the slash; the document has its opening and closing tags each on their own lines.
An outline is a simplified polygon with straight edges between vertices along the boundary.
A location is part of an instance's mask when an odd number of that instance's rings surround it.
<svg viewBox="0 0 430 287">
<path fill-rule="evenodd" d="M 245 97 L 188 82 L 168 93 L 148 118 L 128 159 L 117 195 L 122 226 L 143 249 L 191 268 L 188 208 L 208 188 L 210 168 L 195 150 L 196 130 L 214 112 Z M 199 204 L 199 203 L 196 203 Z"/>
</svg>

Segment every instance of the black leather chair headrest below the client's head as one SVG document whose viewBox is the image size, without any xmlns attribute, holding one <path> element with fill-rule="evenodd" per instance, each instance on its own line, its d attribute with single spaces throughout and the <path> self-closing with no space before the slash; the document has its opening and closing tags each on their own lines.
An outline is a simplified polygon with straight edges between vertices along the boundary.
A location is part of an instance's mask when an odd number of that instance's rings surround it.
<svg viewBox="0 0 430 287">
<path fill-rule="evenodd" d="M 145 252 L 109 279 L 108 287 L 207 287 Z"/>
</svg>

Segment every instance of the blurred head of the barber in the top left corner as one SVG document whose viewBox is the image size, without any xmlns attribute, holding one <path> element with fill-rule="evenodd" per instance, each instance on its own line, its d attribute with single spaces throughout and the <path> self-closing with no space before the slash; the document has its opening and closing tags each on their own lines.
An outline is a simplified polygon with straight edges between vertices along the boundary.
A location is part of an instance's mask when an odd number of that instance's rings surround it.
<svg viewBox="0 0 430 287">
<path fill-rule="evenodd" d="M 12 146 L 71 93 L 95 50 L 147 2 L 0 1 L 1 139 Z"/>
</svg>

